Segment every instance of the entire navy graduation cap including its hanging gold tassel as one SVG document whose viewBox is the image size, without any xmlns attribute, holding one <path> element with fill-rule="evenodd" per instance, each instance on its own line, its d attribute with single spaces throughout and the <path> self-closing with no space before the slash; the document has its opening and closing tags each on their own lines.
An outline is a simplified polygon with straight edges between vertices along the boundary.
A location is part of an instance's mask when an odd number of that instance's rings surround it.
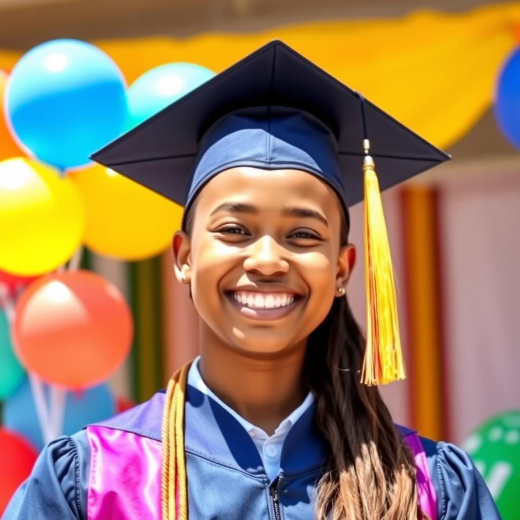
<svg viewBox="0 0 520 520">
<path fill-rule="evenodd" d="M 316 175 L 334 188 L 347 217 L 348 206 L 364 198 L 367 347 L 361 378 L 369 385 L 405 376 L 380 188 L 449 158 L 279 40 L 90 155 L 184 205 L 185 215 L 204 184 L 233 166 Z"/>
</svg>

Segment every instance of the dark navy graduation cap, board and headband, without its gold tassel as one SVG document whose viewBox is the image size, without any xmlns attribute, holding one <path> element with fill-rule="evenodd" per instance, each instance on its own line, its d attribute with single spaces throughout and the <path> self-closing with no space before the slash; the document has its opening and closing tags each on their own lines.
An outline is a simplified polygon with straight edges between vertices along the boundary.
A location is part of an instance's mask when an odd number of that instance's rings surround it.
<svg viewBox="0 0 520 520">
<path fill-rule="evenodd" d="M 275 119 L 273 123 L 269 115 L 282 111 L 272 107 L 293 110 L 287 110 L 284 121 Z M 231 112 L 248 108 L 242 110 L 242 116 L 226 118 Z M 449 159 L 449 155 L 369 101 L 365 101 L 365 113 L 381 189 Z M 307 121 L 303 120 L 310 119 L 308 114 L 318 121 L 305 125 Z M 206 148 L 214 145 L 216 136 L 204 134 L 219 119 L 218 137 L 227 133 L 232 140 L 219 147 L 219 152 L 224 153 L 216 153 L 213 146 L 205 156 L 201 144 Z M 309 129 L 313 125 L 314 132 Z M 269 132 L 281 134 L 278 142 L 271 141 L 271 148 L 266 142 L 262 149 L 258 140 L 254 141 L 253 153 L 244 148 L 244 141 L 251 144 L 252 138 Z M 315 138 L 318 133 L 323 139 Z M 327 142 L 329 133 L 334 138 L 332 142 Z M 358 94 L 288 45 L 274 40 L 96 151 L 90 159 L 181 205 L 191 201 L 196 192 L 190 190 L 193 173 L 197 174 L 193 184 L 198 187 L 219 168 L 228 167 L 228 163 L 279 168 L 294 162 L 311 173 L 321 168 L 324 180 L 332 181 L 336 191 L 341 190 L 340 196 L 348 207 L 363 199 L 361 165 L 365 137 Z M 313 139 L 313 147 L 319 150 L 309 148 Z M 281 149 L 279 145 L 287 140 L 296 142 L 293 147 Z M 307 160 L 302 162 L 298 148 Z M 204 171 L 194 172 L 201 158 Z M 219 161 L 228 163 L 218 164 Z M 330 166 L 332 171 L 323 169 Z"/>
</svg>

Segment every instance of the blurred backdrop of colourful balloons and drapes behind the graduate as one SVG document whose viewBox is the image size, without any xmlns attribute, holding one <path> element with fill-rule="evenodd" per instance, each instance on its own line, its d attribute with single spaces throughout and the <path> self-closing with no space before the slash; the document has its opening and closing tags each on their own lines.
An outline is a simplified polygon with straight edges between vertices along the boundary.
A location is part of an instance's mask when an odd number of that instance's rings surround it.
<svg viewBox="0 0 520 520">
<path fill-rule="evenodd" d="M 46 439 L 148 399 L 197 355 L 169 250 L 181 209 L 87 157 L 273 38 L 452 154 L 383 195 L 408 378 L 382 392 L 513 504 L 520 2 L 0 0 L 0 451 L 28 442 L 30 467 Z M 364 326 L 362 271 L 347 296 Z"/>
</svg>

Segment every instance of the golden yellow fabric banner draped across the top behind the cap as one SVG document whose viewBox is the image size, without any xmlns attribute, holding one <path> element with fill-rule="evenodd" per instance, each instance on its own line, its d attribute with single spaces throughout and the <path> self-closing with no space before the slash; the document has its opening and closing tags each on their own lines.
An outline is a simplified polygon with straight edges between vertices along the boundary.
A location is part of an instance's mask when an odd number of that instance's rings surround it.
<svg viewBox="0 0 520 520">
<path fill-rule="evenodd" d="M 103 40 L 128 83 L 163 63 L 222 71 L 278 38 L 359 90 L 439 147 L 460 139 L 489 108 L 501 64 L 518 45 L 520 2 L 456 14 L 420 10 L 400 18 L 320 21 L 254 33 Z M 0 50 L 0 69 L 20 54 Z"/>
</svg>

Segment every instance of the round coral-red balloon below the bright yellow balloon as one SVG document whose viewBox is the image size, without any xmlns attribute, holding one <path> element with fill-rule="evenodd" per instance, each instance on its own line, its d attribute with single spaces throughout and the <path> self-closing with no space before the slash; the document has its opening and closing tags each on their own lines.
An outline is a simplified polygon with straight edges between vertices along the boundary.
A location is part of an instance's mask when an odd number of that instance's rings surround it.
<svg viewBox="0 0 520 520">
<path fill-rule="evenodd" d="M 20 296 L 12 323 L 22 365 L 73 390 L 100 383 L 124 361 L 132 316 L 120 291 L 90 271 L 44 276 Z"/>
</svg>

